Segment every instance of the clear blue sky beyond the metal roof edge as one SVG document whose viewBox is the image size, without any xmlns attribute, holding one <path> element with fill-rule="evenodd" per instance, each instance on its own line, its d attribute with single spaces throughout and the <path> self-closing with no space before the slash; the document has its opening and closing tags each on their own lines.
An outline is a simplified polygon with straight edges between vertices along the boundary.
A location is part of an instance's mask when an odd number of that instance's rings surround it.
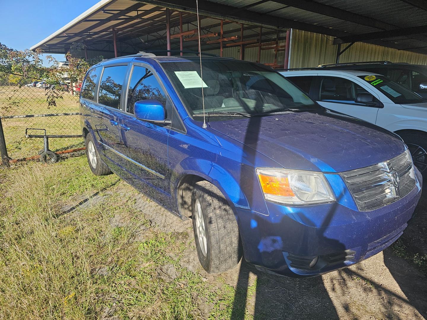
<svg viewBox="0 0 427 320">
<path fill-rule="evenodd" d="M 85 12 L 96 0 L 0 0 L 0 42 L 23 50 Z M 64 55 L 54 55 L 59 61 Z"/>
</svg>

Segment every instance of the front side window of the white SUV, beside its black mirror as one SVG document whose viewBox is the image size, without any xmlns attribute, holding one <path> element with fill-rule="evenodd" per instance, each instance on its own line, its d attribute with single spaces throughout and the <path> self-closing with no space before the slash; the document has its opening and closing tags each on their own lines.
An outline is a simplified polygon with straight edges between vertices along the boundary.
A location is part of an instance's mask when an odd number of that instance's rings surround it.
<svg viewBox="0 0 427 320">
<path fill-rule="evenodd" d="M 322 77 L 320 100 L 354 103 L 357 93 L 367 92 L 351 80 L 339 77 Z"/>
</svg>

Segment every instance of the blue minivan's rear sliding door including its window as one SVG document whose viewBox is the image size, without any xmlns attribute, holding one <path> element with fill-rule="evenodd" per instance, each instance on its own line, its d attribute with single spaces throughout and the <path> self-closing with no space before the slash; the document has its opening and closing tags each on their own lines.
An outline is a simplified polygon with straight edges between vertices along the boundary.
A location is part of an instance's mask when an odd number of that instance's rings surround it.
<svg viewBox="0 0 427 320">
<path fill-rule="evenodd" d="M 116 172 L 123 162 L 117 151 L 123 144 L 120 136 L 120 106 L 123 99 L 123 83 L 129 64 L 110 64 L 103 68 L 99 82 L 98 99 L 91 112 L 91 125 L 108 166 Z"/>
</svg>

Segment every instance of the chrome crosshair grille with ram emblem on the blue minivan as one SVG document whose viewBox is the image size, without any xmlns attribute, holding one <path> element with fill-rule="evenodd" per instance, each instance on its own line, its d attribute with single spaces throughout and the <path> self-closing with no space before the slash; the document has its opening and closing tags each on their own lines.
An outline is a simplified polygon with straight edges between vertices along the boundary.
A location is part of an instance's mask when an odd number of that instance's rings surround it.
<svg viewBox="0 0 427 320">
<path fill-rule="evenodd" d="M 390 204 L 415 186 L 415 172 L 409 150 L 391 160 L 341 173 L 360 211 Z"/>
</svg>

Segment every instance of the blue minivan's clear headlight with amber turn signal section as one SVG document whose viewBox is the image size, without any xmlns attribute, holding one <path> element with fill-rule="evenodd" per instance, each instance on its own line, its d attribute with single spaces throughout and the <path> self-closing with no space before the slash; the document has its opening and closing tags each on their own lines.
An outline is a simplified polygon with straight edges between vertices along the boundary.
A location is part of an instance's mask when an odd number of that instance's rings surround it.
<svg viewBox="0 0 427 320">
<path fill-rule="evenodd" d="M 328 181 L 320 172 L 257 168 L 268 201 L 280 204 L 319 204 L 335 201 Z"/>
</svg>

